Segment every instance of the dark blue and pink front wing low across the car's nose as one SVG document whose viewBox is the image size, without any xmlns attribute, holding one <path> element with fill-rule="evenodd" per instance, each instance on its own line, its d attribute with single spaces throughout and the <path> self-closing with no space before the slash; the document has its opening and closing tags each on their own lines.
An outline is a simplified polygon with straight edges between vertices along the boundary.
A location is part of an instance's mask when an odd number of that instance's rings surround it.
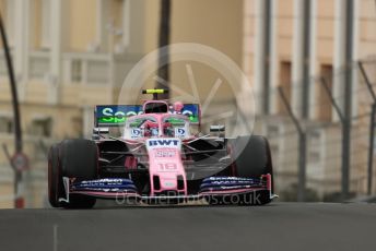
<svg viewBox="0 0 376 251">
<path fill-rule="evenodd" d="M 183 201 L 201 200 L 210 196 L 246 195 L 256 192 L 268 193 L 270 199 L 277 195 L 272 193 L 271 175 L 265 175 L 260 179 L 238 177 L 209 177 L 202 180 L 200 191 L 197 194 L 178 195 L 165 193 L 163 195 L 144 195 L 137 191 L 132 180 L 120 178 L 105 178 L 96 180 L 77 181 L 63 177 L 66 198 L 59 201 L 69 203 L 70 194 L 84 194 L 99 199 L 134 199 L 150 201 L 158 199 L 178 199 Z"/>
</svg>

